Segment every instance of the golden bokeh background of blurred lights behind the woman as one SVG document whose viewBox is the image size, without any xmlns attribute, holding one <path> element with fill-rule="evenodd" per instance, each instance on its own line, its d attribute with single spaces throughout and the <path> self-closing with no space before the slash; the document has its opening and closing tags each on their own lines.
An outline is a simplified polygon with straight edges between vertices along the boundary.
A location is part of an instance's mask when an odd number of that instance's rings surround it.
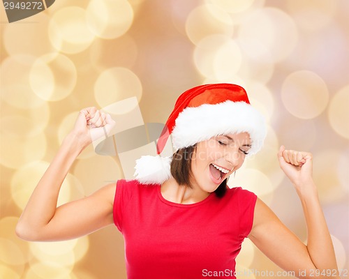
<svg viewBox="0 0 349 279">
<path fill-rule="evenodd" d="M 15 224 L 83 107 L 135 97 L 144 123 L 165 123 L 182 91 L 209 82 L 244 86 L 268 123 L 264 149 L 230 186 L 254 191 L 305 241 L 276 153 L 280 144 L 311 151 L 339 269 L 348 269 L 349 1 L 59 0 L 11 24 L 0 10 L 0 278 L 126 278 L 116 227 L 27 243 Z M 59 203 L 123 178 L 123 167 L 90 146 Z M 237 269 L 251 271 L 240 278 L 280 271 L 248 240 Z"/>
</svg>

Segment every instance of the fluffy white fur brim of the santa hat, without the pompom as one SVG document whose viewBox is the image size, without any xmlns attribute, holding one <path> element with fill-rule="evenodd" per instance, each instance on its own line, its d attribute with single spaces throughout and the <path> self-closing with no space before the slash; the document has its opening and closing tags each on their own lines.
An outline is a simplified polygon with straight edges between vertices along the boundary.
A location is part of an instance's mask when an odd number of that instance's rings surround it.
<svg viewBox="0 0 349 279">
<path fill-rule="evenodd" d="M 177 116 L 171 135 L 173 147 L 178 150 L 216 135 L 242 132 L 251 138 L 248 154 L 257 153 L 266 136 L 264 117 L 245 102 L 228 100 L 216 105 L 186 107 Z"/>
</svg>

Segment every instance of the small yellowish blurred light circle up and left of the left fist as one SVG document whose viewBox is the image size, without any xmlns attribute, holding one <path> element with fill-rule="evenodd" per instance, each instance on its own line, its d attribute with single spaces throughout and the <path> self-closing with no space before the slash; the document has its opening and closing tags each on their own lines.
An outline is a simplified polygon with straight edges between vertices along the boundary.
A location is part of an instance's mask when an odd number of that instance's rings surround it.
<svg viewBox="0 0 349 279">
<path fill-rule="evenodd" d="M 63 54 L 45 54 L 34 62 L 29 80 L 39 98 L 57 101 L 66 98 L 74 89 L 77 72 L 74 63 Z"/>
</svg>

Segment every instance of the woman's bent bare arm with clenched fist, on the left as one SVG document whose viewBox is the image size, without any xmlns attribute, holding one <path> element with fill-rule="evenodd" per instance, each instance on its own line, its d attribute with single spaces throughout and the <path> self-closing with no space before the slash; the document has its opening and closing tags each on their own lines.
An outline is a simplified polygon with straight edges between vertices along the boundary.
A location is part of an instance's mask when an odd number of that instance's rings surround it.
<svg viewBox="0 0 349 279">
<path fill-rule="evenodd" d="M 114 121 L 95 107 L 81 110 L 73 130 L 38 182 L 17 223 L 16 234 L 27 241 L 59 241 L 94 232 L 112 223 L 115 185 L 57 207 L 61 185 L 80 152 L 109 133 Z"/>
</svg>

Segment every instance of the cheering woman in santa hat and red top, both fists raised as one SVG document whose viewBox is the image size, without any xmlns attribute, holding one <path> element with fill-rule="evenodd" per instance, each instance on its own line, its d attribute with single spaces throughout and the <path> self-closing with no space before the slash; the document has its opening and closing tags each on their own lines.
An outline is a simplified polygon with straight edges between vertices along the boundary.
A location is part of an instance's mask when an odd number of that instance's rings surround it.
<svg viewBox="0 0 349 279">
<path fill-rule="evenodd" d="M 281 169 L 302 202 L 307 245 L 253 193 L 226 186 L 265 138 L 262 116 L 242 87 L 207 84 L 184 92 L 157 142 L 159 155 L 138 160 L 136 180 L 120 180 L 116 188 L 107 185 L 57 208 L 61 183 L 73 161 L 113 124 L 94 107 L 80 112 L 31 195 L 16 228 L 18 236 L 60 241 L 114 223 L 124 235 L 128 278 L 152 279 L 235 278 L 235 257 L 248 237 L 296 277 L 339 278 L 312 179 L 311 153 L 283 146 L 278 153 Z M 175 153 L 163 158 L 170 135 Z"/>
</svg>

